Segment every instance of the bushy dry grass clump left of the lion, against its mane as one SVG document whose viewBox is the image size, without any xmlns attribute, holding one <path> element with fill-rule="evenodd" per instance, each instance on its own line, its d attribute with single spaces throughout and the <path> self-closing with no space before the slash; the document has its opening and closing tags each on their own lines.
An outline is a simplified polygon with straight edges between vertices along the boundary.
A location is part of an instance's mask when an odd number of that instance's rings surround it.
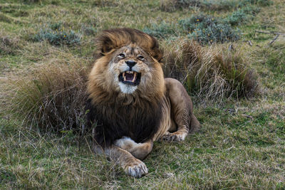
<svg viewBox="0 0 285 190">
<path fill-rule="evenodd" d="M 80 129 L 88 70 L 78 58 L 66 60 L 69 64 L 48 63 L 1 79 L 0 112 L 23 119 L 43 132 Z"/>
</svg>

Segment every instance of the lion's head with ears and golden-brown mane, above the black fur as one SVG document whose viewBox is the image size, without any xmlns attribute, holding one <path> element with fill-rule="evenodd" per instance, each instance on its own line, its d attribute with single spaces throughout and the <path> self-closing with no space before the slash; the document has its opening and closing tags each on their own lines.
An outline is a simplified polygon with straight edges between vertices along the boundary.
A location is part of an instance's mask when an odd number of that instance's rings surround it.
<svg viewBox="0 0 285 190">
<path fill-rule="evenodd" d="M 132 35 L 140 43 L 131 42 Z M 147 100 L 162 97 L 165 85 L 154 38 L 133 29 L 120 29 L 109 31 L 100 38 L 100 43 L 101 57 L 95 61 L 88 80 L 88 93 L 93 101 L 108 101 L 115 94 Z"/>
</svg>

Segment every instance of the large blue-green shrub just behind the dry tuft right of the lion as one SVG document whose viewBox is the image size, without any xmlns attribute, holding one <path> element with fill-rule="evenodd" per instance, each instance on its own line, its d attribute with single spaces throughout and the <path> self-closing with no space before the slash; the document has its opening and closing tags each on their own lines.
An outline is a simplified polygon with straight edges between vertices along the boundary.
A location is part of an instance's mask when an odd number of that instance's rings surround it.
<svg viewBox="0 0 285 190">
<path fill-rule="evenodd" d="M 179 21 L 182 28 L 189 31 L 188 37 L 202 44 L 225 43 L 239 40 L 239 31 L 234 30 L 221 19 L 198 14 Z"/>
</svg>

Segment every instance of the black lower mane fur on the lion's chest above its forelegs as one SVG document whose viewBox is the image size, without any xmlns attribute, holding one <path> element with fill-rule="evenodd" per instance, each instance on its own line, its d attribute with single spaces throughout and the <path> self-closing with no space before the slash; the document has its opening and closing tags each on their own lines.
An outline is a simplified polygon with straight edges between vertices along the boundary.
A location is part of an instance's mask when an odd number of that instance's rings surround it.
<svg viewBox="0 0 285 190">
<path fill-rule="evenodd" d="M 93 105 L 89 99 L 86 103 L 87 127 L 95 125 L 95 141 L 101 147 L 109 147 L 115 139 L 130 137 L 135 142 L 145 142 L 153 137 L 160 126 L 162 116 L 161 102 L 145 102 L 147 106 L 133 105 Z M 146 114 L 147 113 L 147 114 Z"/>
</svg>

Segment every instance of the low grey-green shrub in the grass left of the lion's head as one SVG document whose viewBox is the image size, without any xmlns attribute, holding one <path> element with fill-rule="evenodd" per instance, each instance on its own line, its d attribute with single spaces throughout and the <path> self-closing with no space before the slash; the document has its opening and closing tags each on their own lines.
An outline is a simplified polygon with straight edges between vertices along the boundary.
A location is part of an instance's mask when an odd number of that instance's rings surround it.
<svg viewBox="0 0 285 190">
<path fill-rule="evenodd" d="M 52 45 L 76 45 L 81 42 L 81 35 L 73 30 L 65 30 L 61 27 L 61 23 L 50 25 L 49 28 L 41 28 L 41 30 L 33 36 L 34 41 L 48 41 Z"/>
</svg>

